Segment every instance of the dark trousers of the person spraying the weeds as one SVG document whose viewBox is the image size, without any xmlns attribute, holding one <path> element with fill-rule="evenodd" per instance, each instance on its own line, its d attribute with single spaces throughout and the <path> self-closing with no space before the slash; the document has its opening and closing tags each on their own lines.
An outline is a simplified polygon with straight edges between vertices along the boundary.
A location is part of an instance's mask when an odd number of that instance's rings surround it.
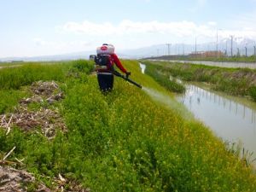
<svg viewBox="0 0 256 192">
<path fill-rule="evenodd" d="M 98 73 L 97 79 L 98 79 L 100 89 L 103 92 L 113 90 L 113 74 Z"/>
</svg>

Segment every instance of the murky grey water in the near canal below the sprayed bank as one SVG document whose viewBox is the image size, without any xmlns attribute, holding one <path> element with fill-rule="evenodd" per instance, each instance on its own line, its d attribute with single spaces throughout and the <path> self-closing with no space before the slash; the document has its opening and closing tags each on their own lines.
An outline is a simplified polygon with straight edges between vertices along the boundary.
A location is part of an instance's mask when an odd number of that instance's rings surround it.
<svg viewBox="0 0 256 192">
<path fill-rule="evenodd" d="M 186 93 L 177 96 L 177 100 L 218 137 L 231 143 L 241 143 L 245 151 L 253 152 L 251 160 L 256 158 L 256 104 L 193 84 L 186 86 Z"/>
</svg>

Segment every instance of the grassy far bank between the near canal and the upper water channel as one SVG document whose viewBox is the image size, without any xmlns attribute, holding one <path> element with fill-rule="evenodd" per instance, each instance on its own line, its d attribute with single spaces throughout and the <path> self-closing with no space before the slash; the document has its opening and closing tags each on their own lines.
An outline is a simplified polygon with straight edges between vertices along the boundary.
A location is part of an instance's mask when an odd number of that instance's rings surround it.
<svg viewBox="0 0 256 192">
<path fill-rule="evenodd" d="M 207 82 L 213 90 L 234 96 L 247 96 L 256 101 L 256 71 L 248 68 L 209 67 L 160 61 L 145 61 L 154 70 L 185 81 Z M 153 64 L 153 65 L 150 65 Z"/>
</svg>

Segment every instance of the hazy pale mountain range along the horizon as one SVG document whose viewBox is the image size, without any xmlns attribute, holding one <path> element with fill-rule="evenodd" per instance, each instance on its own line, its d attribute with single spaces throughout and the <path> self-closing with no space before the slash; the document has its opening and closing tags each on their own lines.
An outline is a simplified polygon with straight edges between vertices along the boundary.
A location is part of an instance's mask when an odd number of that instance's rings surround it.
<svg viewBox="0 0 256 192">
<path fill-rule="evenodd" d="M 250 38 L 223 38 L 218 41 L 218 51 L 226 52 L 231 55 L 254 55 L 255 54 L 255 40 Z M 160 55 L 188 55 L 195 51 L 210 51 L 217 50 L 217 41 L 204 44 L 154 44 L 139 49 L 123 49 L 117 53 L 120 58 L 124 59 L 138 59 L 150 56 Z M 43 55 L 33 57 L 6 57 L 0 58 L 0 61 L 67 61 L 77 59 L 89 59 L 89 55 L 96 54 L 95 50 L 81 51 L 63 55 Z"/>
</svg>

